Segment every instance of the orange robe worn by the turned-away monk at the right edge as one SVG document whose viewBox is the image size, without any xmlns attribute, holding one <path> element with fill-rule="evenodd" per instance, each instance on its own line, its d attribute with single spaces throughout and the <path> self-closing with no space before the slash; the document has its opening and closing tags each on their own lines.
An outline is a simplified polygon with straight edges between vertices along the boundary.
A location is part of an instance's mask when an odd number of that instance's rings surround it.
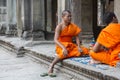
<svg viewBox="0 0 120 80">
<path fill-rule="evenodd" d="M 109 51 L 90 52 L 90 56 L 102 63 L 116 66 L 120 61 L 120 24 L 111 23 L 98 36 L 97 42 L 109 48 Z"/>
</svg>

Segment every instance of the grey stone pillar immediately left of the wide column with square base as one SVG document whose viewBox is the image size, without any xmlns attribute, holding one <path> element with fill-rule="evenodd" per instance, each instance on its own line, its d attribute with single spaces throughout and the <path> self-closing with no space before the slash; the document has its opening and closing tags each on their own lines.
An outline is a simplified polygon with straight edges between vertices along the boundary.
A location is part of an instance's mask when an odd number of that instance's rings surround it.
<svg viewBox="0 0 120 80">
<path fill-rule="evenodd" d="M 32 37 L 31 29 L 32 29 L 32 0 L 24 0 L 22 6 L 22 24 L 23 24 L 23 35 L 24 39 L 29 39 Z"/>
</svg>

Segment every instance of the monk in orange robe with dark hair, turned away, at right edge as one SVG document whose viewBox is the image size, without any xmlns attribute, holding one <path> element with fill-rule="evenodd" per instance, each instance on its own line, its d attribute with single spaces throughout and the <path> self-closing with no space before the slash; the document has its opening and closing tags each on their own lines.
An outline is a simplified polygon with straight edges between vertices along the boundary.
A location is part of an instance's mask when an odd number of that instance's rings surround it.
<svg viewBox="0 0 120 80">
<path fill-rule="evenodd" d="M 116 66 L 120 62 L 120 24 L 113 12 L 107 12 L 104 16 L 107 27 L 104 28 L 90 51 L 90 63 L 105 63 Z"/>
</svg>

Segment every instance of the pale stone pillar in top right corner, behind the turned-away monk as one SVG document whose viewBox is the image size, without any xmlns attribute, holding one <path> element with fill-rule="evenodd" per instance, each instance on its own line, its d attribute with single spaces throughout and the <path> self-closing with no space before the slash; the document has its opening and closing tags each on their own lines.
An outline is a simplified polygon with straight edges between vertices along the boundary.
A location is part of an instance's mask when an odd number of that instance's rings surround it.
<svg viewBox="0 0 120 80">
<path fill-rule="evenodd" d="M 120 0 L 114 0 L 114 12 L 120 22 Z"/>
</svg>

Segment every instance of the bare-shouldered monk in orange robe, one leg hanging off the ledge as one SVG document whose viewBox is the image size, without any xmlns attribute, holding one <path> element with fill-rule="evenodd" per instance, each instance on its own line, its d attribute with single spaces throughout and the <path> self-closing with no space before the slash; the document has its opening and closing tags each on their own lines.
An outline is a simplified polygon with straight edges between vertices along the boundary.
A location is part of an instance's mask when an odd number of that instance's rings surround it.
<svg viewBox="0 0 120 80">
<path fill-rule="evenodd" d="M 54 36 L 57 56 L 50 65 L 48 73 L 53 73 L 54 65 L 63 59 L 79 57 L 84 52 L 88 54 L 85 47 L 80 47 L 78 37 L 80 31 L 81 29 L 77 25 L 71 23 L 71 12 L 68 10 L 63 11 L 62 22 L 57 25 Z M 73 37 L 76 37 L 77 45 L 72 42 Z"/>
</svg>

